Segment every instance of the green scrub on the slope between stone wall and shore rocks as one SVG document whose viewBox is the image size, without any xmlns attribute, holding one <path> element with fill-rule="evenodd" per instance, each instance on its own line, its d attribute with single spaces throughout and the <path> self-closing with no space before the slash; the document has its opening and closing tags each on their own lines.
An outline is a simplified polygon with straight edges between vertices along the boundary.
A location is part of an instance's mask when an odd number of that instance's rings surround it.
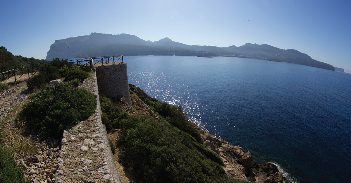
<svg viewBox="0 0 351 183">
<path fill-rule="evenodd" d="M 131 85 L 130 92 L 133 87 Z M 222 159 L 193 137 L 196 129 L 186 124 L 191 122 L 181 106 L 166 103 L 158 106 L 144 100 L 152 104 L 149 107 L 160 107 L 158 115 L 163 123 L 146 115 L 127 116 L 117 101 L 100 96 L 101 110 L 108 118 L 106 125 L 121 129 L 116 142 L 120 149 L 119 161 L 132 170 L 137 181 L 240 182 L 229 178 L 221 167 Z M 193 131 L 186 126 L 192 126 Z"/>
</svg>

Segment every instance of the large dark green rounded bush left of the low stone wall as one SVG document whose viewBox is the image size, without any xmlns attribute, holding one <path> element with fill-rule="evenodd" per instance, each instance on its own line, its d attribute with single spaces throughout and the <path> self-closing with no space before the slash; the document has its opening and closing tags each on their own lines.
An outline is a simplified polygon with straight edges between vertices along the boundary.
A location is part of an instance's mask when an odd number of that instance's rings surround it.
<svg viewBox="0 0 351 183">
<path fill-rule="evenodd" d="M 88 118 L 96 108 L 96 96 L 72 85 L 56 83 L 35 94 L 19 114 L 42 137 L 59 138 L 66 125 Z"/>
</svg>

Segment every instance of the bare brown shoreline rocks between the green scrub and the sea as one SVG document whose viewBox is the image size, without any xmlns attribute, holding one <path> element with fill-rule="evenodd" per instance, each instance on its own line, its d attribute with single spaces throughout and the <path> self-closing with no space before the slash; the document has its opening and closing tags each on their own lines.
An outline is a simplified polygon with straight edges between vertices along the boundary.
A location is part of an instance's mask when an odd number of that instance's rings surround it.
<svg viewBox="0 0 351 183">
<path fill-rule="evenodd" d="M 158 101 L 148 96 L 143 90 L 141 92 L 133 90 L 138 96 L 143 96 L 152 101 Z M 192 123 L 192 122 L 191 122 Z M 193 123 L 194 124 L 194 123 Z M 238 181 L 254 181 L 257 183 L 293 183 L 294 180 L 276 163 L 257 164 L 252 159 L 251 153 L 246 152 L 239 146 L 233 146 L 224 139 L 219 139 L 211 135 L 194 124 L 200 133 L 200 143 L 206 145 L 208 149 L 215 152 L 223 159 L 225 164 L 223 169 L 226 174 Z"/>
</svg>

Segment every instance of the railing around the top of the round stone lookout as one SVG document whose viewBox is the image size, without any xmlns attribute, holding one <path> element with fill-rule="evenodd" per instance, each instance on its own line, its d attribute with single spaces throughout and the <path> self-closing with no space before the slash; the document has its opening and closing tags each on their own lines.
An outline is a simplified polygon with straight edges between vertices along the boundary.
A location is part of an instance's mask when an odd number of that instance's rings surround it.
<svg viewBox="0 0 351 183">
<path fill-rule="evenodd" d="M 77 65 L 86 65 L 90 64 L 90 66 L 94 66 L 95 64 L 102 63 L 102 65 L 110 63 L 110 61 L 113 61 L 113 64 L 115 62 L 118 62 L 121 60 L 123 63 L 123 55 L 112 55 L 112 56 L 104 56 L 104 57 L 89 57 L 89 58 L 80 58 L 80 59 L 73 59 L 73 60 L 68 60 L 68 63 L 77 64 Z"/>
</svg>

